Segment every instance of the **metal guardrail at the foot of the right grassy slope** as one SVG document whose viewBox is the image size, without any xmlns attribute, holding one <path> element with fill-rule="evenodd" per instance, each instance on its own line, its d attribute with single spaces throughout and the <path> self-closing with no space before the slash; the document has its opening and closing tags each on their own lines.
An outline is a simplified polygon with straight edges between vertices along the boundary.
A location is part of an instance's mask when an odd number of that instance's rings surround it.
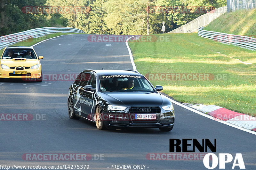
<svg viewBox="0 0 256 170">
<path fill-rule="evenodd" d="M 204 27 L 198 29 L 198 35 L 224 44 L 233 44 L 242 48 L 256 50 L 256 38 L 243 35 L 234 35 L 228 33 L 219 33 L 214 31 L 203 30 Z"/>
</svg>

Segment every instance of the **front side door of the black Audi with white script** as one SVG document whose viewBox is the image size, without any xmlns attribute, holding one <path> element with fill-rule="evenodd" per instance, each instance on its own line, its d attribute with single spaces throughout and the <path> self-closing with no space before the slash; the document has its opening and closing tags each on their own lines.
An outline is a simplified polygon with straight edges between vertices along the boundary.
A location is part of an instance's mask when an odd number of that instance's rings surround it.
<svg viewBox="0 0 256 170">
<path fill-rule="evenodd" d="M 92 88 L 95 88 L 96 90 L 96 76 L 94 74 L 91 74 L 91 77 L 89 78 L 87 85 L 92 85 Z M 85 90 L 84 88 L 81 90 L 82 91 L 82 98 L 81 98 L 81 104 L 82 104 L 82 111 L 86 115 L 86 118 L 92 119 L 92 108 L 94 106 L 94 101 L 93 101 L 93 95 L 95 91 L 92 90 Z"/>
</svg>

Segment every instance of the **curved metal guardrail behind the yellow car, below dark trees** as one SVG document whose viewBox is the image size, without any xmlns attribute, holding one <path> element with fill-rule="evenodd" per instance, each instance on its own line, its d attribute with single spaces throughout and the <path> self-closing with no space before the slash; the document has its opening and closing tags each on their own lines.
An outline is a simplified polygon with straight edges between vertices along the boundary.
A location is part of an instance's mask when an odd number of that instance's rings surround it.
<svg viewBox="0 0 256 170">
<path fill-rule="evenodd" d="M 0 37 L 0 49 L 15 44 L 20 41 L 24 41 L 28 38 L 37 38 L 51 33 L 85 33 L 77 28 L 70 27 L 43 27 L 35 28 L 20 33 L 14 33 L 10 35 L 4 35 Z"/>
</svg>

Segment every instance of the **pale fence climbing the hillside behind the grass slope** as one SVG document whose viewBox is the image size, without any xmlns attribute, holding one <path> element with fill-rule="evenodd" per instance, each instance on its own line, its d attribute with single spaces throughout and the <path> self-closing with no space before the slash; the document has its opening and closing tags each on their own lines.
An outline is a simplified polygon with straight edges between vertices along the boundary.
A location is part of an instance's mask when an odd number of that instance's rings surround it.
<svg viewBox="0 0 256 170">
<path fill-rule="evenodd" d="M 214 19 L 227 12 L 227 6 L 212 10 L 200 17 L 188 22 L 187 24 L 180 26 L 168 33 L 193 33 L 197 32 L 198 28 L 208 25 Z"/>
</svg>

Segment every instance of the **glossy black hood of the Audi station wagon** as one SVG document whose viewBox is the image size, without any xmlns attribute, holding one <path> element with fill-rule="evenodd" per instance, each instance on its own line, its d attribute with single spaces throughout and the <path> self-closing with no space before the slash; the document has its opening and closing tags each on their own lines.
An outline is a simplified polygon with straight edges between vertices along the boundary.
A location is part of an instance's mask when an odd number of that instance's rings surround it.
<svg viewBox="0 0 256 170">
<path fill-rule="evenodd" d="M 100 92 L 99 96 L 112 105 L 165 106 L 171 104 L 164 95 L 155 92 Z"/>
</svg>

